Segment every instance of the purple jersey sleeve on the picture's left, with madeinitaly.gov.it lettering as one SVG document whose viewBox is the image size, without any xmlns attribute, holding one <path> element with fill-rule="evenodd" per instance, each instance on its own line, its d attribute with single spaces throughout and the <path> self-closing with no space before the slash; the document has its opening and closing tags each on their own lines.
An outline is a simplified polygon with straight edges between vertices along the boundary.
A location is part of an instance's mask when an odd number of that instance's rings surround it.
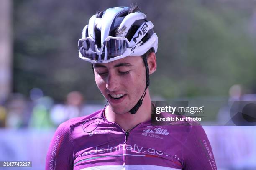
<svg viewBox="0 0 256 170">
<path fill-rule="evenodd" d="M 69 121 L 57 128 L 46 155 L 45 170 L 73 170 L 74 146 Z"/>
</svg>

